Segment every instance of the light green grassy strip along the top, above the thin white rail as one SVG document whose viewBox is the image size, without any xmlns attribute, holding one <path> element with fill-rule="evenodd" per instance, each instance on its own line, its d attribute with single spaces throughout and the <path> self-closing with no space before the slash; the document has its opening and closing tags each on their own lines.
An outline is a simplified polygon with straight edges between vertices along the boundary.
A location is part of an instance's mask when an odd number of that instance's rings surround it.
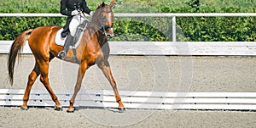
<svg viewBox="0 0 256 128">
<path fill-rule="evenodd" d="M 115 13 L 186 13 L 193 0 L 115 0 Z M 59 13 L 61 0 L 0 0 L 0 13 Z M 90 9 L 111 0 L 86 0 Z M 255 0 L 201 0 L 201 8 L 207 12 L 224 12 L 223 8 L 239 8 L 239 12 L 255 12 Z M 206 10 L 203 10 L 203 12 Z"/>
</svg>

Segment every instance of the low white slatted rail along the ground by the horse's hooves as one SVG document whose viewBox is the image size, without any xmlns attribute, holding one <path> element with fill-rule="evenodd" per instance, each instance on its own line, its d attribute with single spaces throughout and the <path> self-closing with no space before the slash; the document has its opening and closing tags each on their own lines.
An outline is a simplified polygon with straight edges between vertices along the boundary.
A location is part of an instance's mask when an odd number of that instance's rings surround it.
<svg viewBox="0 0 256 128">
<path fill-rule="evenodd" d="M 1 106 L 20 106 L 24 90 L 0 89 Z M 63 107 L 73 92 L 56 90 Z M 126 109 L 256 110 L 256 92 L 129 92 L 119 91 Z M 32 90 L 28 106 L 54 107 L 49 93 Z M 117 108 L 112 90 L 81 90 L 76 107 Z"/>
</svg>

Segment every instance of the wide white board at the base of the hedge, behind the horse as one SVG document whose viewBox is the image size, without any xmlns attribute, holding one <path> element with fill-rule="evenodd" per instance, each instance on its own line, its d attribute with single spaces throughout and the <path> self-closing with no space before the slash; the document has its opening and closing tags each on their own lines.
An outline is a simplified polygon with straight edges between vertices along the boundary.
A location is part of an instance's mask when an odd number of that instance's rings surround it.
<svg viewBox="0 0 256 128">
<path fill-rule="evenodd" d="M 13 41 L 0 41 L 0 53 L 9 53 Z M 109 42 L 112 55 L 255 56 L 255 42 Z M 27 42 L 21 53 L 32 53 Z"/>
</svg>

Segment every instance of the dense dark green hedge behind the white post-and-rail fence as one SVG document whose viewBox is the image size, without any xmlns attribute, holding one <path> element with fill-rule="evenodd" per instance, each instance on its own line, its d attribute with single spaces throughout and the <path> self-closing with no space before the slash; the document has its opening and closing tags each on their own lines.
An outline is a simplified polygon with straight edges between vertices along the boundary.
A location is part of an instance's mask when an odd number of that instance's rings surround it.
<svg viewBox="0 0 256 128">
<path fill-rule="evenodd" d="M 141 7 L 139 12 L 164 13 L 255 13 L 255 8 L 206 6 L 190 0 L 183 6 L 171 8 L 168 4 L 154 9 Z M 128 7 L 127 7 L 128 8 Z M 142 9 L 143 8 L 143 9 Z M 37 13 L 40 8 L 33 8 Z M 29 10 L 32 10 L 30 7 Z M 117 6 L 115 10 L 120 10 Z M 133 10 L 134 12 L 138 10 Z M 13 8 L 1 10 L 12 12 Z M 26 8 L 26 11 L 27 8 Z M 127 11 L 127 10 L 126 10 Z M 49 8 L 47 13 L 58 12 Z M 118 13 L 114 11 L 115 13 Z M 14 40 L 22 31 L 44 25 L 65 25 L 65 17 L 1 17 L 0 40 Z M 113 41 L 172 41 L 172 18 L 120 18 L 114 19 Z M 177 41 L 189 42 L 255 42 L 255 17 L 177 17 Z"/>
</svg>

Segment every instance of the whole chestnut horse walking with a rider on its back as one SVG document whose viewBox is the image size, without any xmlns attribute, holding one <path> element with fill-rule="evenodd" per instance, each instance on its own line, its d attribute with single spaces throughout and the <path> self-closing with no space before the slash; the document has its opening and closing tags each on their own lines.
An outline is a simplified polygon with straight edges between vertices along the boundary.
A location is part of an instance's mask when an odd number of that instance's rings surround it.
<svg viewBox="0 0 256 128">
<path fill-rule="evenodd" d="M 97 66 L 102 70 L 103 74 L 107 77 L 108 81 L 113 87 L 116 102 L 119 103 L 118 109 L 125 109 L 123 103 L 121 102 L 121 98 L 119 97 L 119 92 L 108 63 L 109 46 L 107 38 L 113 37 L 114 35 L 112 11 L 113 4 L 114 0 L 110 5 L 102 3 L 96 8 L 96 12 L 92 16 L 90 24 L 84 31 L 79 47 L 76 49 L 77 59 L 79 60 L 79 71 L 73 97 L 70 99 L 70 106 L 67 109 L 67 112 L 74 111 L 73 103 L 75 102 L 75 98 L 80 90 L 84 73 L 88 68 L 90 68 L 90 66 L 94 64 L 97 64 Z M 26 92 L 23 97 L 23 105 L 21 106 L 21 109 L 27 109 L 29 94 L 38 75 L 40 75 L 40 81 L 44 84 L 52 100 L 55 102 L 55 109 L 62 109 L 61 103 L 58 101 L 58 98 L 55 96 L 55 93 L 49 86 L 48 78 L 50 61 L 55 57 L 58 58 L 57 54 L 62 50 L 61 46 L 55 44 L 55 34 L 60 29 L 60 26 L 43 26 L 24 31 L 20 34 L 20 36 L 16 37 L 15 42 L 13 42 L 10 48 L 8 68 L 9 82 L 11 85 L 13 85 L 14 80 L 15 59 L 17 53 L 23 47 L 26 40 L 28 41 L 29 47 L 31 48 L 32 54 L 36 60 L 34 69 L 28 76 Z M 68 50 L 65 61 L 76 63 L 76 61 L 73 60 L 72 50 Z"/>
</svg>

